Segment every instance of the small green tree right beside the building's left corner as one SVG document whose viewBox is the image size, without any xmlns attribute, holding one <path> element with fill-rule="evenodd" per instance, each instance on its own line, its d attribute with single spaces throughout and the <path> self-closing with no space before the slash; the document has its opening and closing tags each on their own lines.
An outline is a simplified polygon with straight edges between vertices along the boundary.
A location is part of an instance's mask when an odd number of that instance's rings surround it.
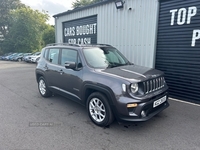
<svg viewBox="0 0 200 150">
<path fill-rule="evenodd" d="M 55 28 L 54 26 L 47 25 L 42 36 L 44 46 L 50 43 L 55 43 Z"/>
</svg>

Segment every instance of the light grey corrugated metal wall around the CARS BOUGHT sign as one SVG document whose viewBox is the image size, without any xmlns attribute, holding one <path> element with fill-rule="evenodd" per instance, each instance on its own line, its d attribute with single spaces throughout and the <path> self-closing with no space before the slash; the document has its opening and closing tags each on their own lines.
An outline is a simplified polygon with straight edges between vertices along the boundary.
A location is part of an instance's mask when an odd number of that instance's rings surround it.
<svg viewBox="0 0 200 150">
<path fill-rule="evenodd" d="M 134 64 L 154 67 L 158 6 L 158 0 L 125 0 L 123 9 L 111 2 L 59 16 L 56 42 L 63 42 L 63 22 L 97 15 L 98 43 L 116 47 Z"/>
</svg>

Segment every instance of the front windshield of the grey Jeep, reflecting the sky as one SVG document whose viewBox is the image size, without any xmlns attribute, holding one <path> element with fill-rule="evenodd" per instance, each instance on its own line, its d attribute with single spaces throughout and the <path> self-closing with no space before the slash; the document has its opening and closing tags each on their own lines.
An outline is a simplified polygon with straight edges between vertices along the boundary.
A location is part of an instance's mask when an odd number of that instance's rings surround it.
<svg viewBox="0 0 200 150">
<path fill-rule="evenodd" d="M 113 47 L 83 49 L 86 62 L 94 68 L 113 68 L 129 64 L 129 61 Z"/>
</svg>

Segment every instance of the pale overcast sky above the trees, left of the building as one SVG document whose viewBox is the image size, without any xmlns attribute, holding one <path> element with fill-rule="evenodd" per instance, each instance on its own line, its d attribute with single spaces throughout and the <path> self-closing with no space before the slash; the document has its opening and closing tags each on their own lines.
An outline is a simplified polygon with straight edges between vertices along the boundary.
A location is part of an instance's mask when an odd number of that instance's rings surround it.
<svg viewBox="0 0 200 150">
<path fill-rule="evenodd" d="M 75 0 L 21 0 L 22 3 L 30 6 L 32 9 L 45 10 L 51 16 L 49 24 L 54 24 L 55 14 L 72 9 L 72 2 Z"/>
</svg>

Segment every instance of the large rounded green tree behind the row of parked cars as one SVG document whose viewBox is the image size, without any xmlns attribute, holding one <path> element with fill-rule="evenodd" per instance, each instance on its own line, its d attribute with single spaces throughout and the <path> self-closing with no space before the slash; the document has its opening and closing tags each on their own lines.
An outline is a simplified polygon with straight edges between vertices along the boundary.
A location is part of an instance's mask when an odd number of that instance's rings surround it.
<svg viewBox="0 0 200 150">
<path fill-rule="evenodd" d="M 47 27 L 48 15 L 45 12 L 22 7 L 11 12 L 10 29 L 3 41 L 7 52 L 31 52 L 43 46 L 43 31 Z"/>
</svg>

